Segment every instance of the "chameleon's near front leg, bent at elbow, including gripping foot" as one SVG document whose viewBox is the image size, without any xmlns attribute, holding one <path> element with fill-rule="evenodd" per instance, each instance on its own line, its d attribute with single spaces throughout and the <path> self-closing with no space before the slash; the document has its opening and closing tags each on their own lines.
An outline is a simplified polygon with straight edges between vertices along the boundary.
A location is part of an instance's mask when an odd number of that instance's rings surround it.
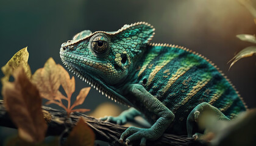
<svg viewBox="0 0 256 146">
<path fill-rule="evenodd" d="M 174 114 L 163 105 L 162 102 L 146 91 L 142 85 L 132 84 L 129 85 L 128 89 L 130 94 L 137 98 L 138 102 L 142 102 L 148 111 L 151 111 L 160 118 L 151 128 L 127 128 L 127 130 L 121 134 L 119 141 L 123 142 L 126 137 L 125 141 L 127 145 L 130 141 L 140 139 L 140 145 L 146 145 L 146 139 L 155 140 L 162 136 L 163 132 L 169 127 L 169 124 L 174 119 Z"/>
</svg>

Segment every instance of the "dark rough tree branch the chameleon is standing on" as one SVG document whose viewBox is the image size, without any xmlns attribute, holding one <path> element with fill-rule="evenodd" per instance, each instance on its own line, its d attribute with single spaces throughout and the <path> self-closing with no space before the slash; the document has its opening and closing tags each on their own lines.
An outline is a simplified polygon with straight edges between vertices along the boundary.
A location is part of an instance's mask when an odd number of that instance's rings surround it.
<svg viewBox="0 0 256 146">
<path fill-rule="evenodd" d="M 47 136 L 59 136 L 63 130 L 65 130 L 66 112 L 42 106 L 44 119 L 48 123 Z M 80 117 L 84 117 L 89 127 L 91 127 L 95 133 L 96 139 L 109 142 L 111 145 L 122 145 L 118 142 L 121 134 L 127 129 L 121 125 L 116 125 L 110 122 L 104 122 L 94 117 L 87 116 L 81 113 L 73 113 L 70 115 L 73 127 L 76 125 Z M 16 128 L 10 119 L 4 101 L 0 100 L 0 126 Z M 135 142 L 133 144 L 139 144 Z M 163 134 L 157 141 L 147 141 L 148 145 L 202 145 L 199 142 L 193 141 L 186 136 L 176 136 L 174 134 Z"/>
</svg>

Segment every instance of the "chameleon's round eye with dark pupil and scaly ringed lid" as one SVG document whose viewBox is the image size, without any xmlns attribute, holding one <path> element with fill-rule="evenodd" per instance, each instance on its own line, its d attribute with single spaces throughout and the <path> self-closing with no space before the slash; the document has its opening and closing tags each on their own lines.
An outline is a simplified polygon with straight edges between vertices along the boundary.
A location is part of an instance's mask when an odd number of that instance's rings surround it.
<svg viewBox="0 0 256 146">
<path fill-rule="evenodd" d="M 109 38 L 104 33 L 97 33 L 90 39 L 90 48 L 93 54 L 99 56 L 108 52 Z"/>
</svg>

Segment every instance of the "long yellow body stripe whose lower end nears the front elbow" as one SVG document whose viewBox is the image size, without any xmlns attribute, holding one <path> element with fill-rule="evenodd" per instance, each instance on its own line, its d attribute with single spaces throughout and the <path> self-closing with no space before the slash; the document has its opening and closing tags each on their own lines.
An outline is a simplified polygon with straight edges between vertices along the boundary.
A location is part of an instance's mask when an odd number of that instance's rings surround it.
<svg viewBox="0 0 256 146">
<path fill-rule="evenodd" d="M 180 106 L 182 106 L 185 103 L 187 103 L 188 100 L 190 100 L 194 95 L 196 95 L 196 93 L 198 91 L 200 91 L 205 85 L 207 85 L 207 83 L 210 80 L 211 80 L 211 76 L 208 76 L 208 77 L 204 78 L 204 80 L 199 80 L 196 83 L 196 86 L 193 86 L 193 89 L 191 89 L 191 91 L 187 94 L 187 96 L 180 103 L 178 103 L 176 106 L 174 106 L 173 112 L 175 112 Z"/>
</svg>

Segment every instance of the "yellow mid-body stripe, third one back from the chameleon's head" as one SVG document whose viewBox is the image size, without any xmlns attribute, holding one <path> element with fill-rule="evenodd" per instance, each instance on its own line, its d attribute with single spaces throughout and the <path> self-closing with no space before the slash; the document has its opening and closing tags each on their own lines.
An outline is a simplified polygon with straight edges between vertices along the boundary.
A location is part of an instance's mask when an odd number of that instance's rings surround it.
<svg viewBox="0 0 256 146">
<path fill-rule="evenodd" d="M 185 74 L 190 68 L 194 66 L 193 63 L 189 64 L 186 67 L 182 67 L 177 69 L 176 73 L 172 75 L 171 78 L 169 78 L 167 85 L 162 89 L 162 92 L 168 91 L 168 89 L 171 87 L 171 85 L 176 82 L 176 80 L 181 77 L 183 74 Z"/>
</svg>

